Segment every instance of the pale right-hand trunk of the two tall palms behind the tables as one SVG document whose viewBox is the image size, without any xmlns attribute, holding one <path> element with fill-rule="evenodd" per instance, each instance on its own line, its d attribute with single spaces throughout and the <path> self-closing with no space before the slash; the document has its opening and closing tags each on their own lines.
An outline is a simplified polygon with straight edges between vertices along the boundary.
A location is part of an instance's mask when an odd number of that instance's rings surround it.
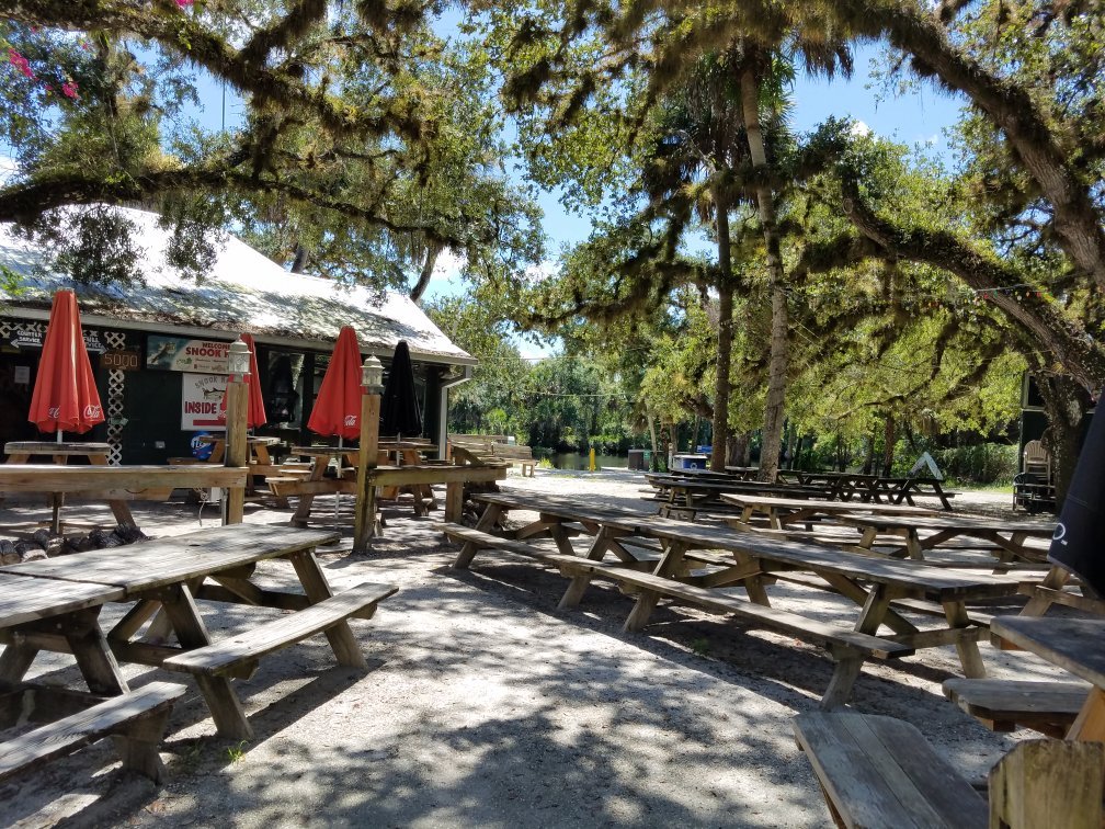
<svg viewBox="0 0 1105 829">
<path fill-rule="evenodd" d="M 767 402 L 764 408 L 764 444 L 760 448 L 760 481 L 775 481 L 779 472 L 779 442 L 782 437 L 782 414 L 787 397 L 787 368 L 790 361 L 790 343 L 787 338 L 787 294 L 783 291 L 786 274 L 780 255 L 779 230 L 775 221 L 775 195 L 767 179 L 767 150 L 759 119 L 759 81 L 756 73 L 746 69 L 740 73 L 740 104 L 748 136 L 748 153 L 756 170 L 756 201 L 767 266 L 771 284 L 771 348 L 768 359 Z"/>
</svg>

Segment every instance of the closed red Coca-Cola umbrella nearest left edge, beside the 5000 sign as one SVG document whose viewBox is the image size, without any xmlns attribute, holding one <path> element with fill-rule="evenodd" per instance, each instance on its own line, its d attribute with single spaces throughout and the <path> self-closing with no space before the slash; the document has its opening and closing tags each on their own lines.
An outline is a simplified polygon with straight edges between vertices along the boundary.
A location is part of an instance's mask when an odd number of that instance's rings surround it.
<svg viewBox="0 0 1105 829">
<path fill-rule="evenodd" d="M 81 332 L 81 312 L 72 291 L 54 294 L 27 419 L 40 431 L 57 432 L 57 440 L 63 431 L 83 434 L 104 422 L 104 408 Z"/>
</svg>

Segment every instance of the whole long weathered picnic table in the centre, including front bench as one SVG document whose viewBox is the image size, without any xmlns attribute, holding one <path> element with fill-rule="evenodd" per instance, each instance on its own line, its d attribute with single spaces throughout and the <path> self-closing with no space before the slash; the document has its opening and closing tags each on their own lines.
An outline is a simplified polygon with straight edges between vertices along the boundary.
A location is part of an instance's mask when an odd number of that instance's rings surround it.
<svg viewBox="0 0 1105 829">
<path fill-rule="evenodd" d="M 846 701 L 864 659 L 870 657 L 896 658 L 920 648 L 955 644 L 965 674 L 985 676 L 977 646 L 985 628 L 966 605 L 1009 596 L 1018 589 L 1018 580 L 1011 577 L 856 556 L 832 547 L 733 533 L 612 507 L 589 507 L 564 499 L 483 493 L 475 500 L 486 504 L 486 511 L 474 531 L 446 527 L 446 534 L 464 542 L 455 566 L 467 567 L 476 552 L 485 547 L 535 556 L 571 577 L 561 608 L 575 607 L 594 577 L 635 587 L 638 598 L 627 619 L 627 630 L 643 628 L 661 597 L 716 612 L 735 612 L 786 630 L 822 644 L 836 660 L 836 672 L 822 700 L 827 707 Z M 534 511 L 538 518 L 499 544 L 491 531 L 512 510 Z M 572 532 L 586 532 L 592 538 L 582 556 L 571 544 Z M 533 539 L 543 536 L 556 544 L 555 554 L 534 546 Z M 606 562 L 608 554 L 615 562 Z M 794 574 L 799 574 L 797 579 Z M 851 599 L 857 612 L 849 616 L 850 628 L 771 608 L 767 580 L 776 575 Z M 723 588 L 738 586 L 745 589 L 747 601 L 722 592 Z M 943 617 L 944 623 L 920 630 L 899 612 L 902 609 Z M 883 627 L 890 632 L 882 633 Z"/>
</svg>

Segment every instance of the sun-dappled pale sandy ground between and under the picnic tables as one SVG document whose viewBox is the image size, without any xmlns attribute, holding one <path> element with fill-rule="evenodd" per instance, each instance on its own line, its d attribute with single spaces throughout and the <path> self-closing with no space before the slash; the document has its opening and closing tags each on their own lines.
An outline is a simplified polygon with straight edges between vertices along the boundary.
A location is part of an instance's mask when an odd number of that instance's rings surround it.
<svg viewBox="0 0 1105 829">
<path fill-rule="evenodd" d="M 627 471 L 538 470 L 532 480 L 512 472 L 503 485 L 651 512 L 643 483 Z M 965 495 L 957 503 L 1003 512 L 1009 502 Z M 200 526 L 197 507 L 182 503 L 135 512 L 151 536 Z M 106 506 L 69 514 L 109 524 Z M 0 505 L 0 534 L 43 515 Z M 251 506 L 246 521 L 287 516 Z M 203 524 L 214 520 L 208 507 Z M 419 520 L 394 511 L 388 521 L 369 555 L 347 552 L 348 531 L 320 550 L 336 587 L 377 580 L 400 588 L 375 619 L 352 622 L 367 673 L 335 668 L 322 637 L 263 660 L 238 685 L 256 732 L 248 743 L 215 735 L 192 686 L 171 717 L 165 786 L 119 772 L 103 742 L 0 786 L 0 826 L 830 825 L 790 724 L 817 709 L 829 682 L 819 649 L 688 610 L 661 609 L 645 634 L 625 634 L 631 600 L 610 586 L 593 586 L 579 609 L 559 612 L 558 574 L 496 555 L 453 570 L 455 547 L 434 531 L 440 512 Z M 295 584 L 282 563 L 262 573 L 273 585 Z M 778 607 L 854 619 L 839 597 L 782 584 L 771 595 Z M 270 612 L 203 611 L 215 637 Z M 119 612 L 107 608 L 105 622 Z M 993 676 L 1056 675 L 1030 654 L 981 647 Z M 124 670 L 131 684 L 168 678 Z M 40 655 L 32 671 L 80 686 L 62 655 Z M 852 706 L 914 723 L 980 780 L 1032 735 L 991 734 L 946 702 L 940 682 L 958 671 L 953 648 L 894 668 L 869 663 Z"/>
</svg>

